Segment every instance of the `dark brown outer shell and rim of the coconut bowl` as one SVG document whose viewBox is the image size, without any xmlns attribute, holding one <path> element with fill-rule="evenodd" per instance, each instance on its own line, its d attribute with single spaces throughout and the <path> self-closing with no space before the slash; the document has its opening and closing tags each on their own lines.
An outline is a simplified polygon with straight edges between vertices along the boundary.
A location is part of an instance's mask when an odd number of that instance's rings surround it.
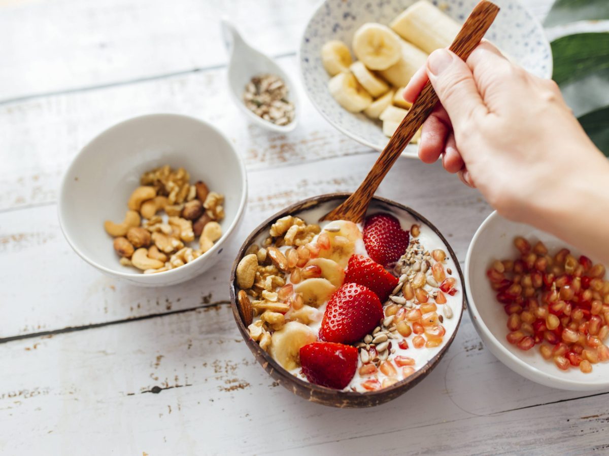
<svg viewBox="0 0 609 456">
<path fill-rule="evenodd" d="M 235 282 L 235 272 L 237 269 L 237 264 L 239 260 L 243 257 L 245 250 L 250 244 L 252 244 L 253 240 L 259 237 L 262 233 L 268 233 L 270 226 L 273 222 L 283 216 L 295 214 L 300 212 L 301 210 L 310 209 L 311 207 L 317 206 L 317 204 L 322 204 L 324 202 L 336 200 L 337 206 L 343 202 L 345 199 L 350 196 L 350 193 L 328 193 L 327 195 L 314 196 L 313 198 L 303 199 L 303 201 L 297 202 L 296 204 L 287 207 L 281 212 L 276 213 L 266 221 L 262 222 L 250 236 L 245 240 L 241 249 L 239 249 L 239 253 L 237 254 L 237 258 L 234 260 L 233 267 L 231 268 L 230 274 L 230 301 L 231 307 L 233 308 L 233 316 L 234 320 L 239 327 L 239 332 L 241 336 L 245 340 L 245 344 L 250 348 L 252 353 L 258 362 L 262 365 L 264 370 L 269 373 L 269 375 L 279 382 L 283 387 L 290 390 L 295 395 L 301 396 L 302 398 L 307 399 L 308 401 L 317 402 L 319 404 L 323 404 L 325 406 L 332 407 L 340 407 L 340 408 L 364 408 L 364 407 L 373 407 L 378 406 L 379 404 L 384 404 L 385 402 L 389 402 L 392 399 L 404 394 L 410 388 L 414 387 L 421 380 L 423 380 L 429 372 L 438 364 L 440 359 L 448 350 L 448 347 L 452 344 L 452 340 L 454 340 L 455 335 L 457 334 L 457 330 L 459 329 L 459 325 L 461 322 L 461 317 L 463 316 L 463 311 L 465 310 L 465 282 L 463 280 L 463 273 L 459 266 L 459 262 L 457 261 L 457 257 L 452 250 L 452 247 L 448 244 L 448 241 L 443 237 L 442 233 L 438 231 L 438 229 L 431 224 L 428 219 L 421 216 L 418 212 L 410 209 L 409 207 L 403 206 L 402 204 L 391 201 L 389 199 L 381 198 L 379 196 L 375 196 L 373 201 L 380 203 L 387 207 L 388 210 L 393 208 L 398 208 L 401 210 L 405 210 L 410 213 L 415 219 L 421 221 L 421 223 L 429 226 L 434 232 L 442 239 L 442 241 L 446 244 L 446 248 L 448 249 L 449 254 L 455 260 L 455 265 L 457 271 L 459 272 L 459 278 L 461 281 L 461 289 L 463 290 L 463 300 L 462 300 L 462 311 L 459 314 L 459 320 L 457 321 L 456 328 L 452 333 L 451 338 L 446 342 L 446 345 L 442 347 L 442 350 L 434 356 L 434 358 L 430 359 L 426 365 L 421 367 L 414 374 L 410 375 L 406 379 L 391 385 L 390 387 L 378 390 L 371 391 L 366 393 L 357 393 L 353 391 L 342 391 L 342 390 L 334 390 L 331 388 L 326 388 L 319 385 L 314 385 L 309 382 L 305 382 L 299 378 L 296 378 L 294 375 L 290 374 L 283 367 L 278 365 L 273 358 L 260 346 L 258 343 L 250 339 L 250 334 L 248 333 L 247 327 L 244 325 L 241 314 L 239 314 L 239 308 L 236 302 L 236 289 L 238 289 Z"/>
</svg>

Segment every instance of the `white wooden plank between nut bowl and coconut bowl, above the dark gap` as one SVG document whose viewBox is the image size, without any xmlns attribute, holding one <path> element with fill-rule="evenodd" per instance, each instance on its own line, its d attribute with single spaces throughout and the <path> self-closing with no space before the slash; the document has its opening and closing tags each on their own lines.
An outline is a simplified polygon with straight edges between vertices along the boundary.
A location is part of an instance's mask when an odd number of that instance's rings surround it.
<svg viewBox="0 0 609 456">
<path fill-rule="evenodd" d="M 233 255 L 262 220 L 308 196 L 353 190 L 376 158 L 368 153 L 250 172 L 249 200 L 238 234 L 214 271 L 188 283 L 144 289 L 105 277 L 72 252 L 54 204 L 0 213 L 5 286 L 0 337 L 51 331 L 192 308 L 228 299 Z M 410 204 L 445 233 L 460 260 L 489 209 L 479 194 L 440 164 L 400 159 L 378 192 Z M 100 220 L 100 235 L 102 220 Z M 111 248 L 108 239 L 108 249 Z M 74 274 L 78 279 L 74 280 Z M 40 286 L 32 287 L 32 280 Z M 66 293 L 66 290 L 69 290 Z"/>
</svg>

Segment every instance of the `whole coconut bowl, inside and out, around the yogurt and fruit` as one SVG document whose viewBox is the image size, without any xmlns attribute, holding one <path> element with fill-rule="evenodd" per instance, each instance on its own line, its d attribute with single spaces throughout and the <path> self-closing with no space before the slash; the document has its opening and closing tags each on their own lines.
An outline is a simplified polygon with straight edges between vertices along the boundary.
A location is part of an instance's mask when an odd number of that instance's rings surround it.
<svg viewBox="0 0 609 456">
<path fill-rule="evenodd" d="M 230 300 L 235 322 L 237 323 L 241 336 L 245 340 L 245 344 L 250 351 L 252 351 L 252 354 L 255 356 L 262 368 L 264 368 L 264 370 L 266 370 L 267 373 L 279 384 L 290 390 L 290 392 L 294 393 L 295 395 L 305 398 L 311 402 L 317 402 L 325 406 L 340 408 L 363 408 L 378 406 L 384 402 L 389 402 L 421 382 L 435 368 L 438 362 L 440 362 L 440 359 L 442 359 L 448 350 L 448 347 L 452 344 L 452 341 L 457 333 L 457 328 L 459 327 L 466 303 L 463 274 L 459 267 L 459 262 L 457 261 L 456 255 L 446 241 L 446 238 L 443 237 L 442 233 L 440 233 L 440 231 L 428 219 L 424 218 L 422 215 L 420 215 L 420 213 L 415 212 L 403 204 L 390 201 L 389 199 L 380 198 L 378 196 L 373 198 L 373 201 L 368 208 L 368 213 L 379 211 L 390 212 L 400 219 L 412 219 L 421 226 L 429 227 L 434 235 L 437 235 L 437 237 L 444 243 L 447 257 L 454 260 L 455 273 L 453 275 L 454 277 L 459 278 L 458 305 L 453 303 L 451 306 L 454 313 L 453 317 L 450 320 L 444 320 L 445 323 L 443 324 L 446 326 L 446 335 L 442 341 L 442 344 L 440 347 L 437 347 L 437 350 L 433 353 L 433 356 L 429 358 L 426 364 L 424 364 L 421 368 L 418 368 L 418 370 L 412 375 L 400 382 L 397 382 L 396 384 L 391 385 L 390 387 L 371 392 L 359 393 L 346 390 L 335 390 L 320 385 L 315 385 L 297 378 L 289 371 L 281 367 L 281 365 L 279 365 L 269 353 L 262 350 L 258 343 L 250 338 L 247 326 L 245 326 L 244 320 L 242 319 L 239 311 L 239 305 L 236 300 L 236 295 L 239 291 L 236 284 L 237 265 L 243 257 L 245 250 L 247 250 L 250 245 L 261 244 L 261 241 L 268 236 L 270 226 L 276 221 L 276 219 L 286 215 L 299 215 L 305 218 L 305 220 L 309 223 L 314 223 L 320 218 L 321 215 L 345 201 L 349 195 L 349 193 L 330 193 L 328 195 L 304 199 L 303 201 L 297 202 L 296 204 L 281 210 L 262 222 L 255 230 L 253 230 L 247 239 L 245 239 L 244 243 L 239 249 L 236 259 L 234 260 L 230 274 Z M 403 228 L 405 227 L 403 226 Z M 413 347 L 412 350 L 417 349 Z"/>
</svg>

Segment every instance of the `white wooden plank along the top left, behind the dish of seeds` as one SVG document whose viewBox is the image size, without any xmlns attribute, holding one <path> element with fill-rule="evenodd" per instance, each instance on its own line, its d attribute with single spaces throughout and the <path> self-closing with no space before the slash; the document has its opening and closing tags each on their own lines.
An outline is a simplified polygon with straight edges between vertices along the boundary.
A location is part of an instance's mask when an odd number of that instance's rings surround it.
<svg viewBox="0 0 609 456">
<path fill-rule="evenodd" d="M 316 0 L 0 2 L 0 101 L 224 64 L 227 52 L 219 26 L 223 15 L 267 54 L 293 54 L 315 4 Z"/>
</svg>

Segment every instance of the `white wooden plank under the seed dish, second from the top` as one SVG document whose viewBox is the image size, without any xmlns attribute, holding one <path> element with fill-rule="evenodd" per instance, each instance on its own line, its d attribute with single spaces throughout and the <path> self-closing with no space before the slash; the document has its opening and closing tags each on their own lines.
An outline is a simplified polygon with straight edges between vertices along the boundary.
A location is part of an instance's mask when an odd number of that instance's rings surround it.
<svg viewBox="0 0 609 456">
<path fill-rule="evenodd" d="M 280 64 L 298 77 L 294 57 Z M 228 94 L 224 69 L 0 105 L 0 210 L 55 202 L 63 171 L 80 148 L 108 126 L 152 112 L 214 123 L 234 141 L 248 170 L 368 151 L 325 122 L 299 90 L 301 122 L 290 134 L 249 123 Z"/>
</svg>

